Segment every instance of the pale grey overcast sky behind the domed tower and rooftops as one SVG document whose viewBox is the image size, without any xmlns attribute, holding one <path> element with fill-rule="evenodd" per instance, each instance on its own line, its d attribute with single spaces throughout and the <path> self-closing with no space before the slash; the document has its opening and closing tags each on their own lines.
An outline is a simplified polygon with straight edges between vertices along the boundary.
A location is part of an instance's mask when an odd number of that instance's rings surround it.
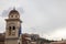
<svg viewBox="0 0 66 44">
<path fill-rule="evenodd" d="M 20 12 L 22 33 L 50 40 L 66 38 L 66 0 L 0 0 L 0 32 L 6 31 L 9 11 Z"/>
</svg>

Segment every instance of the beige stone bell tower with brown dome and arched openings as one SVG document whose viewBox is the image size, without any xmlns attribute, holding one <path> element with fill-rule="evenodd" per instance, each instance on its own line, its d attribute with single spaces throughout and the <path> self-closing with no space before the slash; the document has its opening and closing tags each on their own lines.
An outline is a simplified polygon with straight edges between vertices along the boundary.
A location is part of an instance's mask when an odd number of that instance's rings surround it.
<svg viewBox="0 0 66 44">
<path fill-rule="evenodd" d="M 22 44 L 21 43 L 21 23 L 19 12 L 13 9 L 6 19 L 6 42 L 4 44 Z"/>
</svg>

